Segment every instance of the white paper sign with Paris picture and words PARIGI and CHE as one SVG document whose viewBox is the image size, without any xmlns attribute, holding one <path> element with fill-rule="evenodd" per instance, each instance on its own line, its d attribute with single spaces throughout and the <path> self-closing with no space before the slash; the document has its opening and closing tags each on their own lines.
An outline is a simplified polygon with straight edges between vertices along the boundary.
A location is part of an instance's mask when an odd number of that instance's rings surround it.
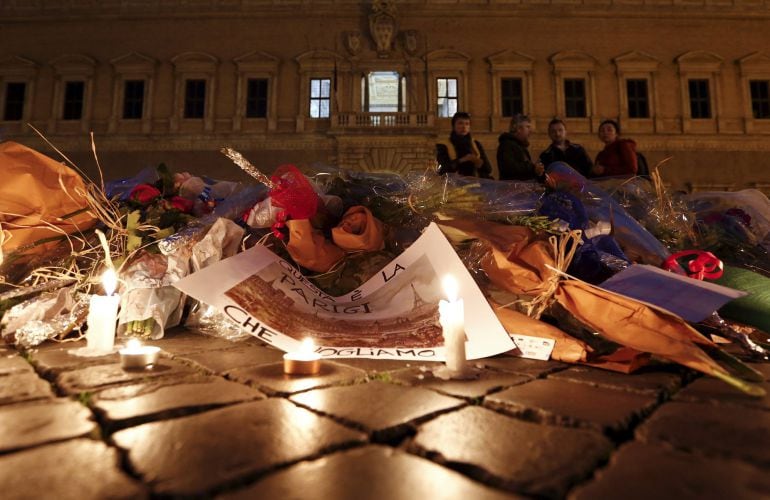
<svg viewBox="0 0 770 500">
<path fill-rule="evenodd" d="M 513 349 L 468 270 L 431 224 L 407 250 L 347 295 L 316 288 L 290 262 L 257 245 L 174 284 L 264 342 L 292 351 L 305 338 L 327 358 L 443 361 L 441 278 L 459 283 L 468 359 Z"/>
</svg>

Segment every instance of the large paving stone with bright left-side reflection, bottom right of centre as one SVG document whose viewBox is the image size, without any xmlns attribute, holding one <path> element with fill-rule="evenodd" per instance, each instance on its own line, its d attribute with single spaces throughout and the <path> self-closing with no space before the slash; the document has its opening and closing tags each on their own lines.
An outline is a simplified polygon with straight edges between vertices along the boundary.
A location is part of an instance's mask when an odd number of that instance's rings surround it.
<svg viewBox="0 0 770 500">
<path fill-rule="evenodd" d="M 485 484 L 557 498 L 606 461 L 613 445 L 595 431 L 537 425 L 470 406 L 420 426 L 411 447 Z"/>
</svg>

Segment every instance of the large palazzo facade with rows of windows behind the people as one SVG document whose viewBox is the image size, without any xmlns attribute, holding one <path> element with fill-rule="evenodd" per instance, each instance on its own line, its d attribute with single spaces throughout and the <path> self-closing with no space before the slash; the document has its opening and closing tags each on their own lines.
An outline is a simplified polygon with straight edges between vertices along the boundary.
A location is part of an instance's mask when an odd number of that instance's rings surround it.
<svg viewBox="0 0 770 500">
<path fill-rule="evenodd" d="M 455 110 L 594 156 L 618 119 L 684 189 L 770 188 L 770 0 L 0 0 L 0 134 L 107 177 L 433 168 Z M 493 162 L 494 163 L 494 162 Z"/>
</svg>

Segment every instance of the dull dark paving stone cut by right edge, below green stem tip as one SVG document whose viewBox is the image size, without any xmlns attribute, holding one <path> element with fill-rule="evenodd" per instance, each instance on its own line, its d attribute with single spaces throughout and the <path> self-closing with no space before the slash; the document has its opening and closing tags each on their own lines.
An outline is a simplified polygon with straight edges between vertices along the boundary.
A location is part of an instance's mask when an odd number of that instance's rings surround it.
<svg viewBox="0 0 770 500">
<path fill-rule="evenodd" d="M 640 425 L 639 439 L 684 451 L 770 466 L 770 412 L 735 405 L 672 402 Z"/>
</svg>

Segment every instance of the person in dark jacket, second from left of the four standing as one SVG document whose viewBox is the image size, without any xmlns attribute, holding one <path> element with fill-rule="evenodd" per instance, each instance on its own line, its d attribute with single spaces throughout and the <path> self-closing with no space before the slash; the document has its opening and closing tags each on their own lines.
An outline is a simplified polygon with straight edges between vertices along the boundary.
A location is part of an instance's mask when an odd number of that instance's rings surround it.
<svg viewBox="0 0 770 500">
<path fill-rule="evenodd" d="M 516 114 L 511 118 L 510 131 L 500 134 L 497 146 L 497 168 L 500 180 L 544 180 L 545 168 L 539 161 L 532 163 L 529 155 L 529 135 L 532 124 L 527 115 Z"/>
</svg>

